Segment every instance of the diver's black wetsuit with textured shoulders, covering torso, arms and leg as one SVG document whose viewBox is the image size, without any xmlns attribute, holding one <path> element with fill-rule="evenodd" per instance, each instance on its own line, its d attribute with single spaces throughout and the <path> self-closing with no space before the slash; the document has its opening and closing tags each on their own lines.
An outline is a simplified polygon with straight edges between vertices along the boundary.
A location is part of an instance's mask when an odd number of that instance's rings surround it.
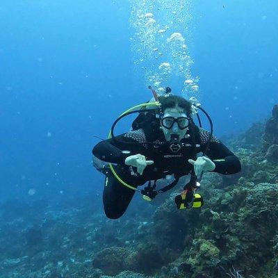
<svg viewBox="0 0 278 278">
<path fill-rule="evenodd" d="M 108 139 L 99 142 L 92 149 L 92 154 L 101 161 L 117 164 L 115 167 L 117 174 L 123 181 L 133 187 L 141 186 L 149 180 L 163 179 L 167 174 L 174 174 L 177 179 L 189 174 L 190 170 L 193 169 L 193 165 L 188 163 L 188 159 L 195 159 L 197 153 L 204 152 L 210 136 L 208 131 L 199 129 L 197 126 L 194 126 L 193 129 L 194 136 L 181 140 L 184 143 L 184 147 L 179 152 L 172 152 L 167 144 L 158 149 L 148 147 L 144 142 L 154 142 L 154 138 L 165 142 L 163 132 L 158 129 L 154 134 L 154 132 L 138 129 L 117 136 L 117 141 Z M 195 137 L 194 140 L 193 137 Z M 129 144 L 129 142 L 138 142 L 140 144 Z M 131 153 L 123 154 L 123 150 L 128 150 Z M 154 164 L 147 165 L 143 174 L 139 175 L 136 172 L 136 168 L 133 169 L 124 164 L 125 158 L 133 154 L 142 154 L 146 157 L 146 160 L 154 161 Z M 241 165 L 238 158 L 215 136 L 211 138 L 206 156 L 215 163 L 213 172 L 220 174 L 240 172 Z M 135 190 L 122 185 L 108 168 L 106 169 L 104 169 L 106 174 L 103 195 L 104 211 L 108 218 L 120 218 L 126 211 L 127 206 L 129 206 Z"/>
</svg>

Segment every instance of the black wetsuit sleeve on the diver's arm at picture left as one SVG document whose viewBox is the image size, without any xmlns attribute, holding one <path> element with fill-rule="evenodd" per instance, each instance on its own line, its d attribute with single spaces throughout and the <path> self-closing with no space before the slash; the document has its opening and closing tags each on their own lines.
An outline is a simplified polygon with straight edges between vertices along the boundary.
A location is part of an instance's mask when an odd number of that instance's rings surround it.
<svg viewBox="0 0 278 278">
<path fill-rule="evenodd" d="M 129 142 L 144 142 L 145 138 L 143 135 L 143 133 L 140 134 L 135 133 L 135 131 L 130 131 L 129 133 L 117 136 L 117 141 L 113 139 L 103 140 L 95 145 L 92 149 L 92 154 L 101 161 L 124 165 L 127 156 L 142 153 L 142 145 L 129 144 Z M 123 154 L 122 151 L 129 151 L 130 154 Z"/>
</svg>

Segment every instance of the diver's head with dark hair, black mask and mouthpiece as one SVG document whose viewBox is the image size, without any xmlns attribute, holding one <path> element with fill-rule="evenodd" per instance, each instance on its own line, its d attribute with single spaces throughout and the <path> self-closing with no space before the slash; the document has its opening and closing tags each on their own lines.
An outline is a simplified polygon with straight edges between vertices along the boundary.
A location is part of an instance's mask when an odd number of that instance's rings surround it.
<svg viewBox="0 0 278 278">
<path fill-rule="evenodd" d="M 161 129 L 165 140 L 180 141 L 188 131 L 190 122 L 190 102 L 183 97 L 171 95 L 170 97 L 161 97 Z"/>
</svg>

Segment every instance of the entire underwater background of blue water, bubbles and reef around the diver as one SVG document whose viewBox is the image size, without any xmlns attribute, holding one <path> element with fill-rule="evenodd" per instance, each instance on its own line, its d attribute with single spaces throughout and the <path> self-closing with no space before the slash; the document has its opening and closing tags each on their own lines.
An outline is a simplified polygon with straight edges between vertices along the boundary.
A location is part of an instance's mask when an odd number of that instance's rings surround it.
<svg viewBox="0 0 278 278">
<path fill-rule="evenodd" d="M 0 277 L 278 277 L 277 13 L 276 0 L 1 0 Z M 201 211 L 138 197 L 107 220 L 91 149 L 148 85 L 197 97 L 243 172 L 208 174 Z"/>
</svg>

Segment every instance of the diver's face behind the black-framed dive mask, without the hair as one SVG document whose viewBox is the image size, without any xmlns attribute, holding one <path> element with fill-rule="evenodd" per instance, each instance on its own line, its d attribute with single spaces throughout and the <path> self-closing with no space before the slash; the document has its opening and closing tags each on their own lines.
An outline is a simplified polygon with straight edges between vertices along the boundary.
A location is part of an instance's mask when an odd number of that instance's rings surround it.
<svg viewBox="0 0 278 278">
<path fill-rule="evenodd" d="M 188 131 L 188 124 L 188 117 L 183 108 L 179 106 L 166 108 L 161 119 L 161 129 L 164 133 L 165 140 L 170 142 L 171 135 L 174 134 L 179 136 L 180 141 Z"/>
</svg>

